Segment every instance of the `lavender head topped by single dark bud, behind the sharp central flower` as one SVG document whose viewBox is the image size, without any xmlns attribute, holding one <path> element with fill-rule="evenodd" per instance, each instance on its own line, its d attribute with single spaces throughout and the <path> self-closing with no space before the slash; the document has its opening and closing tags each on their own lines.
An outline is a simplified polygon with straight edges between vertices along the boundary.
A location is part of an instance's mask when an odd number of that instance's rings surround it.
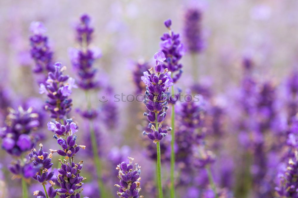
<svg viewBox="0 0 298 198">
<path fill-rule="evenodd" d="M 164 22 L 164 25 L 169 29 L 169 33 L 164 33 L 164 35 L 160 38 L 162 41 L 160 42 L 161 51 L 164 55 L 157 58 L 157 62 L 162 63 L 162 67 L 164 69 L 168 69 L 170 72 L 173 72 L 173 82 L 175 83 L 182 74 L 182 64 L 179 63 L 179 60 L 184 55 L 184 47 L 180 41 L 180 35 L 175 34 L 171 30 L 171 20 L 168 19 Z M 162 59 L 161 59 L 162 58 Z M 174 72 L 178 71 L 178 73 L 174 74 Z"/>
</svg>

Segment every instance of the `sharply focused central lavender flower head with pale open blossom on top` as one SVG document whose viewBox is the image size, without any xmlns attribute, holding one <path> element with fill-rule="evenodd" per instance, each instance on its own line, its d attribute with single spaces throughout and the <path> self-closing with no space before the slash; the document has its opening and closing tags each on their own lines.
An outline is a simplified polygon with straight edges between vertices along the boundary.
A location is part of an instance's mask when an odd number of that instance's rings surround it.
<svg viewBox="0 0 298 198">
<path fill-rule="evenodd" d="M 166 130 L 161 128 L 161 124 L 164 122 L 166 111 L 167 111 L 167 102 L 168 95 L 167 90 L 170 86 L 173 85 L 173 79 L 171 78 L 171 72 L 168 72 L 168 69 L 164 69 L 164 72 L 161 73 L 161 64 L 164 60 L 164 53 L 158 52 L 154 55 L 156 59 L 155 73 L 153 72 L 153 67 L 149 69 L 150 75 L 148 72 L 144 72 L 142 80 L 145 83 L 146 92 L 144 103 L 149 113 L 144 113 L 148 121 L 151 123 L 159 123 L 158 129 L 155 126 L 151 125 L 151 133 L 143 132 L 143 135 L 147 135 L 153 142 L 159 142 L 163 137 L 167 135 L 167 131 L 171 130 L 167 128 Z"/>
</svg>

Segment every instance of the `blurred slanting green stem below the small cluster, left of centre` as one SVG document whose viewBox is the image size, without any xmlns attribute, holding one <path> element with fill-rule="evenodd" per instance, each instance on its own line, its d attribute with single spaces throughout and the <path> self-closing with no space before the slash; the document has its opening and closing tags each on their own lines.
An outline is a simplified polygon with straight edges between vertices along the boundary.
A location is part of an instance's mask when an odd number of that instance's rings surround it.
<svg viewBox="0 0 298 198">
<path fill-rule="evenodd" d="M 92 122 L 90 122 L 90 134 L 91 134 L 91 143 L 92 143 L 92 152 L 93 152 L 93 157 L 94 157 L 94 165 L 95 165 L 95 169 L 96 169 L 96 174 L 97 174 L 97 182 L 98 182 L 98 186 L 100 189 L 100 197 L 106 197 L 105 196 L 105 191 L 104 191 L 104 186 L 103 186 L 103 182 L 101 180 L 101 163 L 100 163 L 100 159 L 97 153 L 97 142 L 95 139 L 95 133 L 94 133 L 94 129 L 93 129 L 93 124 Z"/>
</svg>

